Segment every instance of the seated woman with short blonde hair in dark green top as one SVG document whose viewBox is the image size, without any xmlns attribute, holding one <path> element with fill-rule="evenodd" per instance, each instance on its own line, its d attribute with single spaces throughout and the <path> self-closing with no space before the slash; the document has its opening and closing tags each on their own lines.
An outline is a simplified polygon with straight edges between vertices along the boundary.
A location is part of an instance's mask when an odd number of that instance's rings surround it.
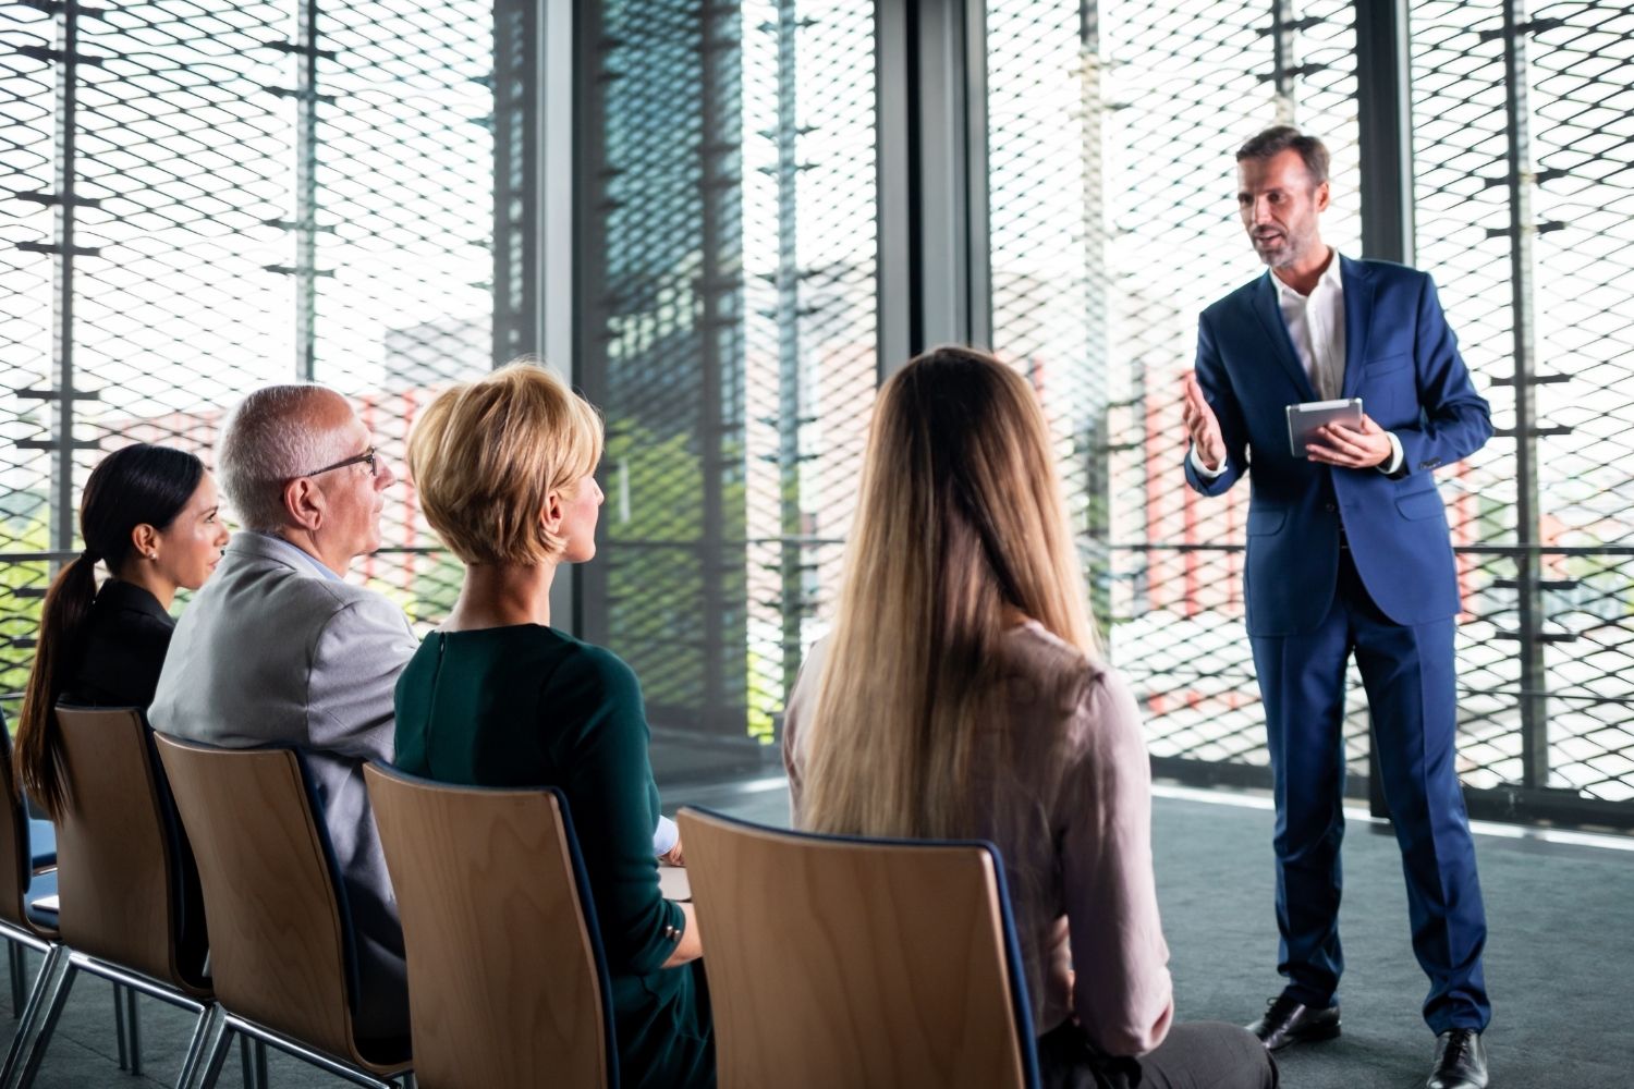
<svg viewBox="0 0 1634 1089">
<path fill-rule="evenodd" d="M 441 782 L 559 787 L 611 975 L 626 1086 L 714 1084 L 693 906 L 659 891 L 659 792 L 641 686 L 551 627 L 560 563 L 595 555 L 601 420 L 549 371 L 511 364 L 441 393 L 408 438 L 431 529 L 466 563 L 448 620 L 397 681 L 397 766 Z"/>
</svg>

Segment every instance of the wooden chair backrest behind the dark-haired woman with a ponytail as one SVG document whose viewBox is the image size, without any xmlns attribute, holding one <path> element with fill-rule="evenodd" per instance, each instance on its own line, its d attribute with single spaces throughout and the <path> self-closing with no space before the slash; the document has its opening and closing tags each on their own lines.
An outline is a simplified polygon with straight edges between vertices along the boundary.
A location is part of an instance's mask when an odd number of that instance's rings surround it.
<svg viewBox="0 0 1634 1089">
<path fill-rule="evenodd" d="M 62 940 L 208 996 L 203 932 L 190 955 L 181 950 L 183 847 L 167 828 L 173 816 L 142 712 L 57 705 L 56 715 L 69 787 L 57 825 Z M 186 924 L 201 927 L 203 913 Z"/>
</svg>

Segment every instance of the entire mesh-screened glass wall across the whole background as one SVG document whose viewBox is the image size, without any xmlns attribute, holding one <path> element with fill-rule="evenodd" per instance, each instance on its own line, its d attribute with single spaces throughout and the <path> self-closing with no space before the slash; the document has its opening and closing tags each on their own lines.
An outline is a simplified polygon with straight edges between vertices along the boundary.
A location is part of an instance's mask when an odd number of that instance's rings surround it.
<svg viewBox="0 0 1634 1089">
<path fill-rule="evenodd" d="M 0 10 L 0 692 L 23 684 L 103 452 L 208 456 L 242 392 L 310 377 L 358 400 L 400 469 L 436 387 L 490 366 L 495 322 L 533 343 L 533 171 L 570 170 L 574 377 L 608 424 L 582 632 L 632 665 L 659 736 L 703 743 L 696 766 L 660 751 L 660 772 L 719 774 L 725 749 L 758 762 L 830 617 L 881 330 L 909 322 L 879 313 L 877 191 L 913 180 L 891 155 L 879 176 L 876 96 L 917 69 L 876 54 L 874 7 L 575 0 L 574 162 L 544 167 L 528 5 L 498 10 L 498 121 L 493 5 Z M 1461 772 L 1510 815 L 1552 798 L 1624 825 L 1631 20 L 1417 0 L 1409 42 L 1417 264 L 1500 429 L 1440 475 L 1466 602 Z M 972 281 L 990 299 L 971 305 L 990 302 L 995 348 L 1046 405 L 1095 611 L 1175 774 L 1268 779 L 1247 490 L 1203 500 L 1180 472 L 1196 315 L 1261 273 L 1232 152 L 1276 121 L 1320 134 L 1325 237 L 1361 255 L 1379 175 L 1359 158 L 1364 41 L 1345 0 L 985 5 L 990 245 Z M 355 575 L 420 622 L 453 601 L 459 567 L 407 482 Z"/>
</svg>

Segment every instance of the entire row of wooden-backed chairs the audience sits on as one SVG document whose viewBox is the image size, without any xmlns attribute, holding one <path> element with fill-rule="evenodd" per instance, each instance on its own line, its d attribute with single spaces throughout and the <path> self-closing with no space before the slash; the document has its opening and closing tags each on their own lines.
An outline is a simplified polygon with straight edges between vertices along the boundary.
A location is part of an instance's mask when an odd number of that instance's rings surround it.
<svg viewBox="0 0 1634 1089">
<path fill-rule="evenodd" d="M 56 932 L 25 922 L 26 852 L 3 857 L 18 836 L 0 826 L 0 927 L 46 953 L 0 1089 L 33 1078 L 75 971 L 196 1014 L 181 1089 L 216 1082 L 234 1035 L 376 1089 L 619 1084 L 608 968 L 559 792 L 366 769 L 408 955 L 410 1071 L 407 1040 L 353 1032 L 345 893 L 297 753 L 181 743 L 127 710 L 60 709 L 59 722 L 72 815 Z M 990 844 L 678 820 L 722 1089 L 1036 1084 Z M 208 978 L 190 970 L 175 914 L 188 841 Z M 247 1084 L 265 1082 L 263 1065 L 245 1051 Z"/>
</svg>

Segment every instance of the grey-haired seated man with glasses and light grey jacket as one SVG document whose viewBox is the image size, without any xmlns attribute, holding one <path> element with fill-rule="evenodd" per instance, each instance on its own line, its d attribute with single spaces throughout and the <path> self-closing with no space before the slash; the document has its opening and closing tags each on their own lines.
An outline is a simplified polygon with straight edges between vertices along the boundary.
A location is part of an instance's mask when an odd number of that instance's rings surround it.
<svg viewBox="0 0 1634 1089">
<path fill-rule="evenodd" d="M 343 581 L 381 547 L 392 470 L 340 393 L 271 385 L 232 411 L 216 472 L 243 531 L 176 624 L 149 718 L 176 738 L 306 754 L 358 936 L 356 1030 L 407 1035 L 402 931 L 363 762 L 392 758 L 392 689 L 417 642 L 397 606 Z"/>
</svg>

